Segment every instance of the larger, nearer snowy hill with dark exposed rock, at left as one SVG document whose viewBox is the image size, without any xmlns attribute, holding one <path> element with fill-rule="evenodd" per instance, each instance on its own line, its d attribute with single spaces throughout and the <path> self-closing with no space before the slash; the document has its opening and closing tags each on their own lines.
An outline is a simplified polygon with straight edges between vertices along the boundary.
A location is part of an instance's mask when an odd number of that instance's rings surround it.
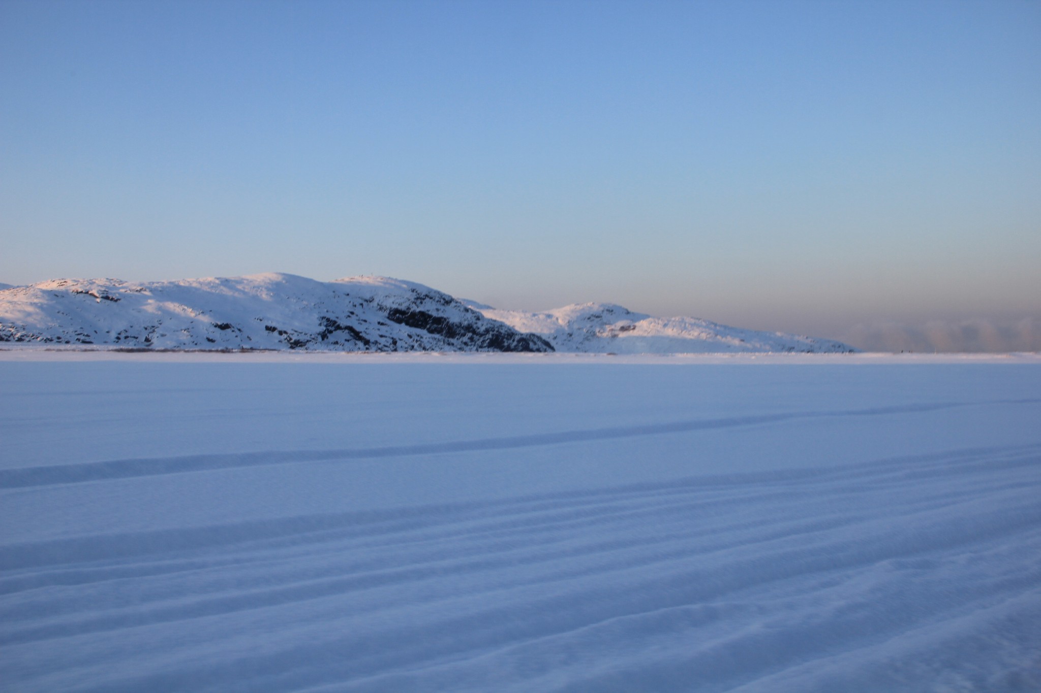
<svg viewBox="0 0 1041 693">
<path fill-rule="evenodd" d="M 0 342 L 147 349 L 552 351 L 448 294 L 387 277 L 268 273 L 129 283 L 53 279 L 0 291 Z"/>
</svg>

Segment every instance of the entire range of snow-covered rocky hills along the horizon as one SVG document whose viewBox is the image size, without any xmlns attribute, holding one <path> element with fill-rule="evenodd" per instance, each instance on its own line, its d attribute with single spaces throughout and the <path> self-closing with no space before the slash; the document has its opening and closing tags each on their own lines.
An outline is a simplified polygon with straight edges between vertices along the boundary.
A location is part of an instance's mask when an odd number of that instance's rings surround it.
<svg viewBox="0 0 1041 693">
<path fill-rule="evenodd" d="M 130 283 L 51 279 L 0 290 L 0 342 L 149 349 L 845 352 L 840 342 L 656 318 L 612 303 L 500 311 L 383 276 L 282 273 Z"/>
</svg>

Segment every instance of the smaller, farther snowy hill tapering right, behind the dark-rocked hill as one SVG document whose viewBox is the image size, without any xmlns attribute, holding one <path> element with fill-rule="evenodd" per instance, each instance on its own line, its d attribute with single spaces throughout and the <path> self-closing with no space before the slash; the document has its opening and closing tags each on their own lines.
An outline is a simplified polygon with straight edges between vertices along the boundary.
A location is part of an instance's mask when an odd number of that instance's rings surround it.
<svg viewBox="0 0 1041 693">
<path fill-rule="evenodd" d="M 656 318 L 614 303 L 576 303 L 544 313 L 500 311 L 463 301 L 485 317 L 544 337 L 557 351 L 694 353 L 720 351 L 854 351 L 841 342 L 728 327 L 697 318 Z"/>
</svg>

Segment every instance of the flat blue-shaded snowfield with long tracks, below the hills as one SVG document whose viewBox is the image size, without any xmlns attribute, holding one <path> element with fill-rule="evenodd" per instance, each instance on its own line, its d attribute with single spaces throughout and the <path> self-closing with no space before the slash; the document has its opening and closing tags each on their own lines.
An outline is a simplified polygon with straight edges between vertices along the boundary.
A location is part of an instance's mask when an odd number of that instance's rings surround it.
<svg viewBox="0 0 1041 693">
<path fill-rule="evenodd" d="M 29 691 L 1037 691 L 1041 357 L 0 350 Z"/>
</svg>

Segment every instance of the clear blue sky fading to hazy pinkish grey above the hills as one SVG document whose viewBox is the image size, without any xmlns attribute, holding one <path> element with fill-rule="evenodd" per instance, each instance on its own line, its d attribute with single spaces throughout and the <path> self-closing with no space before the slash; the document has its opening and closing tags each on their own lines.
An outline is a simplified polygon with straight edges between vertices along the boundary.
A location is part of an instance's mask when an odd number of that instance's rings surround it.
<svg viewBox="0 0 1041 693">
<path fill-rule="evenodd" d="M 0 282 L 1041 318 L 1041 2 L 0 2 Z"/>
</svg>

